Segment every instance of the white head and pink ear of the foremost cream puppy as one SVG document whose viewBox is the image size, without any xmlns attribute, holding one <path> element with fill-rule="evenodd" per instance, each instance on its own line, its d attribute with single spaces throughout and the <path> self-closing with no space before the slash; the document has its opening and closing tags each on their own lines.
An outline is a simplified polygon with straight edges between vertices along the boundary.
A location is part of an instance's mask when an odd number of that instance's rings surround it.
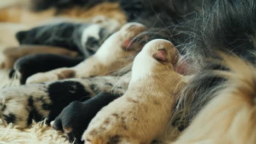
<svg viewBox="0 0 256 144">
<path fill-rule="evenodd" d="M 173 70 L 178 61 L 178 50 L 164 39 L 155 39 L 147 43 L 135 57 L 132 66 L 132 79 L 158 73 L 157 71 Z"/>
</svg>

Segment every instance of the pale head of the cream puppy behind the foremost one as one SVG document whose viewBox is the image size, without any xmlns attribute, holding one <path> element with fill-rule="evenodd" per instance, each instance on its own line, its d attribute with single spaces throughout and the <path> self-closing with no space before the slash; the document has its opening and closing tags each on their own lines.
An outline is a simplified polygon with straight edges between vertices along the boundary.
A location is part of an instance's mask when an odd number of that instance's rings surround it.
<svg viewBox="0 0 256 144">
<path fill-rule="evenodd" d="M 110 35 L 104 41 L 95 56 L 101 59 L 103 63 L 108 63 L 108 65 L 121 59 L 133 58 L 142 49 L 142 46 L 133 45 L 132 38 L 143 31 L 146 31 L 146 28 L 140 23 L 132 22 L 125 24 L 118 32 Z"/>
</svg>

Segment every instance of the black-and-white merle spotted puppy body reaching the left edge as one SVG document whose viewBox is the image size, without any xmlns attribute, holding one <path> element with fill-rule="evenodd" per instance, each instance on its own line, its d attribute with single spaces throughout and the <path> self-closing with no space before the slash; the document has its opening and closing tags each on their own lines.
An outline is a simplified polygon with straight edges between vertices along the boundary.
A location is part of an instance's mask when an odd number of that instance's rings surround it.
<svg viewBox="0 0 256 144">
<path fill-rule="evenodd" d="M 4 88 L 0 92 L 1 116 L 5 124 L 24 128 L 32 119 L 53 121 L 72 101 L 84 101 L 100 92 L 110 92 L 119 77 L 69 79 Z"/>
</svg>

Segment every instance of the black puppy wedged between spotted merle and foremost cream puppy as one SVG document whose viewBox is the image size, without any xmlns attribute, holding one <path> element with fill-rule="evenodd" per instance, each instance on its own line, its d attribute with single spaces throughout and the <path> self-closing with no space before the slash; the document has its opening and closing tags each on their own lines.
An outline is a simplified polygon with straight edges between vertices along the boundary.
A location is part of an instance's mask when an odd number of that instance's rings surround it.
<svg viewBox="0 0 256 144">
<path fill-rule="evenodd" d="M 73 142 L 75 138 L 76 143 L 82 143 L 81 137 L 91 119 L 102 107 L 118 97 L 120 97 L 120 94 L 101 92 L 84 102 L 73 101 L 62 110 L 61 114 L 51 124 L 55 130 L 65 131 L 70 142 Z"/>
</svg>

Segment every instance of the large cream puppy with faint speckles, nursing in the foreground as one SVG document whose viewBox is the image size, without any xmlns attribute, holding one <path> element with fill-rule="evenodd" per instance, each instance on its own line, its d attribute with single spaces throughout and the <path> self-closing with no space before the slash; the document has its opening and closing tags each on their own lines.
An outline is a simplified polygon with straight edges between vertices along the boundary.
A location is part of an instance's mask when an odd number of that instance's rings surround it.
<svg viewBox="0 0 256 144">
<path fill-rule="evenodd" d="M 85 143 L 150 143 L 170 120 L 184 77 L 174 71 L 177 49 L 167 40 L 146 44 L 136 56 L 125 94 L 92 119 Z M 154 130 L 153 130 L 154 129 Z"/>
</svg>

